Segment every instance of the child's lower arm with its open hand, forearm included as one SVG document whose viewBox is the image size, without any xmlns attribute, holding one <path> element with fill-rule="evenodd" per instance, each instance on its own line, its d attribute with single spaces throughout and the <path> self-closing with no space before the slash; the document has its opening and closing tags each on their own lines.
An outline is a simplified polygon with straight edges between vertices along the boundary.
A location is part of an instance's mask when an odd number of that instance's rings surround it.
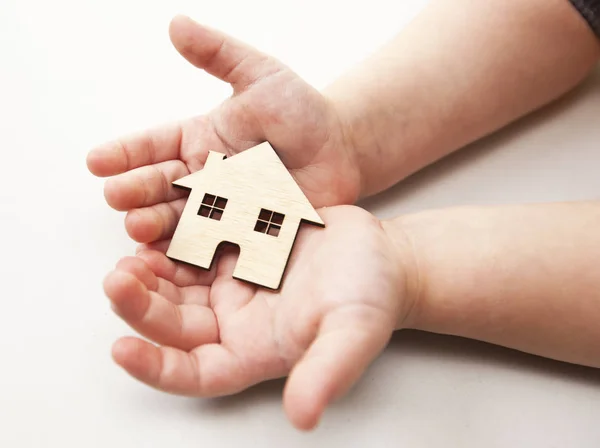
<svg viewBox="0 0 600 448">
<path fill-rule="evenodd" d="M 232 278 L 236 251 L 210 271 L 169 260 L 163 243 L 120 260 L 104 288 L 142 337 L 118 340 L 115 361 L 152 387 L 193 396 L 287 376 L 285 410 L 301 429 L 315 427 L 396 329 L 600 367 L 600 202 L 383 223 L 358 207 L 320 212 L 327 226 L 303 226 L 278 291 Z"/>
</svg>

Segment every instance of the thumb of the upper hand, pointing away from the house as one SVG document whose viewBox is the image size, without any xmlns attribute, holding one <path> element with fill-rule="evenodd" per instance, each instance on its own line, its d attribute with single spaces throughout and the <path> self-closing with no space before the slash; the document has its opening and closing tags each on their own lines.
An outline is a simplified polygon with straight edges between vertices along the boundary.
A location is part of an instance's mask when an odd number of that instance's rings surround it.
<svg viewBox="0 0 600 448">
<path fill-rule="evenodd" d="M 194 66 L 241 91 L 283 69 L 283 65 L 257 49 L 217 30 L 177 16 L 169 27 L 177 51 Z"/>
</svg>

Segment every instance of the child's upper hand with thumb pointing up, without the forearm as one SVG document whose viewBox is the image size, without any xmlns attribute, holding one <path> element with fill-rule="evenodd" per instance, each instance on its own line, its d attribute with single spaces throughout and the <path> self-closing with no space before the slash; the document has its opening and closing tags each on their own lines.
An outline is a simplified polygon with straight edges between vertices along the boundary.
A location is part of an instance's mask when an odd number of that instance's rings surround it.
<svg viewBox="0 0 600 448">
<path fill-rule="evenodd" d="M 359 174 L 334 107 L 279 61 L 178 17 L 170 28 L 192 64 L 230 83 L 234 94 L 217 109 L 172 126 L 104 145 L 88 156 L 92 173 L 111 177 L 110 206 L 129 211 L 138 242 L 171 236 L 185 195 L 171 182 L 202 168 L 208 150 L 232 155 L 268 140 L 315 207 L 348 204 Z"/>
</svg>

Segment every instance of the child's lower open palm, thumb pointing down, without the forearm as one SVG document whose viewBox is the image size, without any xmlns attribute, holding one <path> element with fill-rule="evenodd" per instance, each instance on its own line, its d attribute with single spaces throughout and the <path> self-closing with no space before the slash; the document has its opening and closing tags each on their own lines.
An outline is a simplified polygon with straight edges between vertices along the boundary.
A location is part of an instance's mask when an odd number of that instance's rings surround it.
<svg viewBox="0 0 600 448">
<path fill-rule="evenodd" d="M 322 216 L 325 229 L 301 229 L 278 292 L 232 279 L 230 252 L 211 271 L 171 261 L 166 242 L 121 260 L 105 291 L 161 347 L 124 338 L 116 362 L 150 386 L 203 397 L 291 372 L 285 409 L 298 428 L 312 428 L 402 326 L 412 300 L 398 257 L 409 252 L 392 247 L 377 219 L 352 206 Z"/>
</svg>

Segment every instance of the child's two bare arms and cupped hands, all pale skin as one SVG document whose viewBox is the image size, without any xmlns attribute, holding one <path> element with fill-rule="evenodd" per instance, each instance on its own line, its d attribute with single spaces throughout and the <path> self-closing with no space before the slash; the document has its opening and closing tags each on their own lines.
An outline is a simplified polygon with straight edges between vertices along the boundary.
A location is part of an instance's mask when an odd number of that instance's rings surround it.
<svg viewBox="0 0 600 448">
<path fill-rule="evenodd" d="M 403 328 L 600 367 L 599 204 L 455 208 L 384 222 L 350 205 L 581 82 L 600 43 L 568 2 L 433 1 L 323 92 L 185 17 L 170 36 L 233 95 L 206 115 L 88 156 L 141 243 L 104 284 L 115 312 L 155 343 L 115 343 L 129 374 L 202 397 L 287 376 L 285 410 L 308 430 Z M 303 226 L 281 290 L 233 280 L 232 252 L 209 272 L 169 260 L 185 204 L 170 182 L 201 169 L 209 149 L 232 155 L 264 140 L 326 207 L 324 230 Z"/>
</svg>

